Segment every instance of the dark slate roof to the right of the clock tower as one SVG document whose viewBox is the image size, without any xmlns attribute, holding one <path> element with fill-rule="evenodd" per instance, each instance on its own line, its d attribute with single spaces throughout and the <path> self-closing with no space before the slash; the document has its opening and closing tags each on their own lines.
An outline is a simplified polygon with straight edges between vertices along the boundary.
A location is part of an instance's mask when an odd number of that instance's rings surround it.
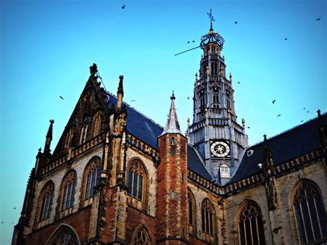
<svg viewBox="0 0 327 245">
<path fill-rule="evenodd" d="M 327 113 L 322 115 L 322 117 L 326 124 Z M 318 120 L 315 118 L 307 121 L 305 124 L 286 130 L 284 133 L 271 137 L 267 141 L 273 155 L 275 166 L 309 153 L 312 150 L 317 150 L 321 147 L 318 133 Z M 253 150 L 253 153 L 248 157 L 247 153 L 249 150 Z M 246 149 L 246 153 L 241 159 L 237 172 L 228 183 L 259 173 L 258 164 L 264 164 L 263 141 Z"/>
</svg>

